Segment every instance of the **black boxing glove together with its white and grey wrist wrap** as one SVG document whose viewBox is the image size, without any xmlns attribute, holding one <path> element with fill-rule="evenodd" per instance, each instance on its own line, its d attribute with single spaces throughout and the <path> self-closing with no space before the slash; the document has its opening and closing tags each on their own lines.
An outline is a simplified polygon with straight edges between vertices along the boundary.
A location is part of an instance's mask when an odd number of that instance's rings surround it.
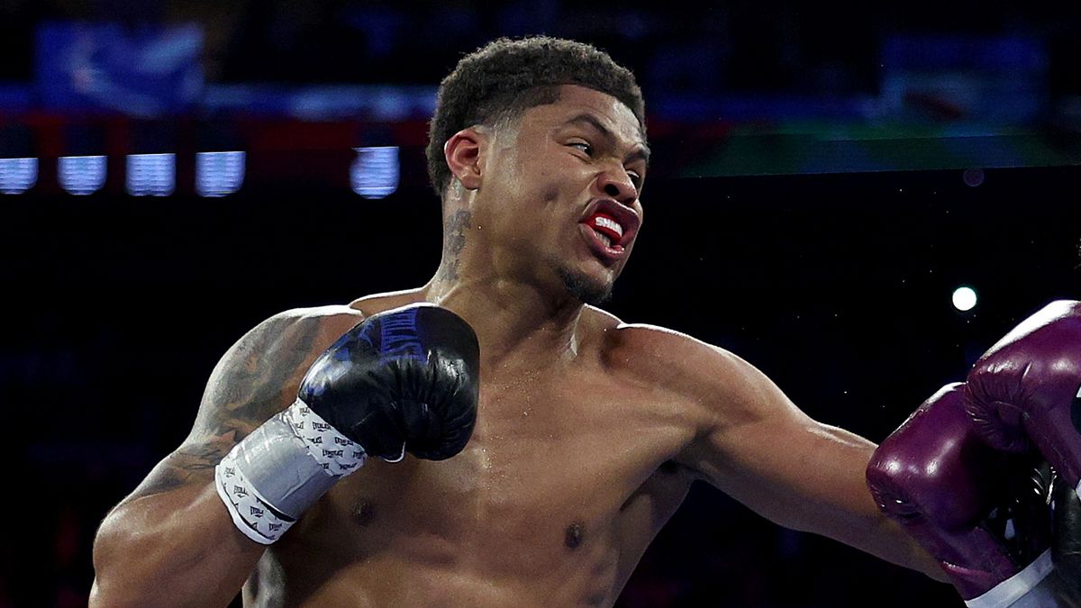
<svg viewBox="0 0 1081 608">
<path fill-rule="evenodd" d="M 477 420 L 480 347 L 445 308 L 373 315 L 308 369 L 296 401 L 237 444 L 215 485 L 237 527 L 269 544 L 369 455 L 443 460 Z"/>
</svg>

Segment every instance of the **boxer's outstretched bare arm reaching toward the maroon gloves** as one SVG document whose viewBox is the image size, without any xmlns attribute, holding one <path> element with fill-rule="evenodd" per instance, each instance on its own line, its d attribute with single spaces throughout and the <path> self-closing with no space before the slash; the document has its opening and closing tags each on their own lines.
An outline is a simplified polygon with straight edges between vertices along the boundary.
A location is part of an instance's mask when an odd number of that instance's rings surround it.
<svg viewBox="0 0 1081 608">
<path fill-rule="evenodd" d="M 691 378 L 707 423 L 682 454 L 684 464 L 782 526 L 945 580 L 935 560 L 882 515 L 867 489 L 875 444 L 811 419 L 735 355 L 697 342 L 690 348 L 697 355 Z"/>
</svg>

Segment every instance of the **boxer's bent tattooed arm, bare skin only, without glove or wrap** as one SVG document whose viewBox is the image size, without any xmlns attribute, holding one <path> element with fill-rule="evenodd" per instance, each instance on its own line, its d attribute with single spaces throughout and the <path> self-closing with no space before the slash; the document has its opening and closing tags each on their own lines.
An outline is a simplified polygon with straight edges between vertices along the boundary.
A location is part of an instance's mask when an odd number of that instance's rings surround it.
<svg viewBox="0 0 1081 608">
<path fill-rule="evenodd" d="M 316 356 L 361 320 L 335 310 L 275 316 L 226 353 L 187 439 L 98 529 L 91 605 L 224 606 L 237 594 L 266 547 L 233 525 L 215 491 L 214 466 L 289 407 Z"/>
</svg>

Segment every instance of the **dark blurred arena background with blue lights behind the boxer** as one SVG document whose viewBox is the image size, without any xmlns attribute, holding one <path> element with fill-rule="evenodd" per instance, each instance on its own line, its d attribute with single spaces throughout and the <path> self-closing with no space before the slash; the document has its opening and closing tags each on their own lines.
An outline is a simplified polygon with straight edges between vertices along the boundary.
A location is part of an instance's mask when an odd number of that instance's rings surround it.
<svg viewBox="0 0 1081 608">
<path fill-rule="evenodd" d="M 97 524 L 244 331 L 428 279 L 435 90 L 497 36 L 591 42 L 644 90 L 610 308 L 881 440 L 1078 298 L 1081 4 L 944 4 L 0 0 L 0 606 L 85 604 Z M 618 605 L 871 604 L 960 606 L 695 486 Z"/>
</svg>

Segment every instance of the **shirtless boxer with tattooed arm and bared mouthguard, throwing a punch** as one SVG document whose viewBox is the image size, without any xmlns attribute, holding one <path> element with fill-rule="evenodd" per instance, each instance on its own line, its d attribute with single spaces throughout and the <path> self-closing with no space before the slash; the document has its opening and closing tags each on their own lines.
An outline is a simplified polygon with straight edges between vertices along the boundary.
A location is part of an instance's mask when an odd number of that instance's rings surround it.
<svg viewBox="0 0 1081 608">
<path fill-rule="evenodd" d="M 246 605 L 611 606 L 695 479 L 945 580 L 876 505 L 870 441 L 811 420 L 731 353 L 595 307 L 642 216 L 627 70 L 577 43 L 493 43 L 442 83 L 428 158 L 435 277 L 241 338 L 188 438 L 105 518 L 93 605 L 225 605 L 243 586 Z M 392 259 L 343 276 L 365 263 Z M 453 314 L 418 320 L 430 309 Z M 386 347 L 399 323 L 429 359 Z M 387 386 L 413 396 L 378 401 Z M 350 446 L 329 468 L 291 434 L 312 412 Z"/>
</svg>

